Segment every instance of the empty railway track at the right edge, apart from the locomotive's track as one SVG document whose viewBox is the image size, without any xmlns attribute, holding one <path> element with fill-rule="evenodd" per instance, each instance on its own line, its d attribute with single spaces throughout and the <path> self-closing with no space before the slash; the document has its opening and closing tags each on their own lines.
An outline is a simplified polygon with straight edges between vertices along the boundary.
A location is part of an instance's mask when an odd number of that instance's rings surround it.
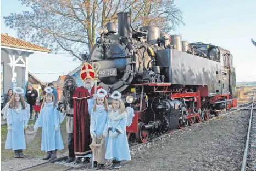
<svg viewBox="0 0 256 171">
<path fill-rule="evenodd" d="M 255 100 L 254 91 L 241 171 L 256 170 L 256 112 L 253 111 L 256 110 Z"/>
</svg>

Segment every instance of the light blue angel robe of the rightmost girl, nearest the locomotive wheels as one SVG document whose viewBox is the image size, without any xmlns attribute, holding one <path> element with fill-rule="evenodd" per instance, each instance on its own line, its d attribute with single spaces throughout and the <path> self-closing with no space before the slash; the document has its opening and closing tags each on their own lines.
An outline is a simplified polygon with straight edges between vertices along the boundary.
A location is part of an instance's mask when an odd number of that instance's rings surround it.
<svg viewBox="0 0 256 171">
<path fill-rule="evenodd" d="M 111 115 L 111 114 L 109 114 Z M 113 138 L 108 138 L 107 149 L 105 158 L 110 160 L 116 158 L 116 160 L 131 160 L 131 154 L 129 149 L 129 144 L 126 136 L 126 122 L 127 114 L 123 115 L 120 119 L 108 117 L 108 130 L 111 128 L 114 133 L 118 130 L 118 136 Z"/>
</svg>

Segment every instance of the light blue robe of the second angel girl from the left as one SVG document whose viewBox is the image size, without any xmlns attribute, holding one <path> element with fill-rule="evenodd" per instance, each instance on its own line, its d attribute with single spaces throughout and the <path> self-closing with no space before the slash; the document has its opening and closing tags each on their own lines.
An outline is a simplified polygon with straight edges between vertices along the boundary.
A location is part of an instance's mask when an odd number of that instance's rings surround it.
<svg viewBox="0 0 256 171">
<path fill-rule="evenodd" d="M 54 108 L 53 102 L 45 103 L 41 109 L 34 127 L 42 127 L 42 151 L 52 151 L 64 149 L 62 134 L 55 131 L 55 126 L 60 127 L 60 112 Z"/>
</svg>

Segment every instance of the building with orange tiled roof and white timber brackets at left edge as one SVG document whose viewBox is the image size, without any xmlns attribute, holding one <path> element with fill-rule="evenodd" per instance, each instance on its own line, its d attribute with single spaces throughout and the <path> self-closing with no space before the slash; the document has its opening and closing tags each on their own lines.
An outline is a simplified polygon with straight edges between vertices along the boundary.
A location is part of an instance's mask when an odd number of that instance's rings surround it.
<svg viewBox="0 0 256 171">
<path fill-rule="evenodd" d="M 18 86 L 26 92 L 26 83 L 29 81 L 29 56 L 50 52 L 50 49 L 43 46 L 1 33 L 1 104 L 8 89 Z"/>
</svg>

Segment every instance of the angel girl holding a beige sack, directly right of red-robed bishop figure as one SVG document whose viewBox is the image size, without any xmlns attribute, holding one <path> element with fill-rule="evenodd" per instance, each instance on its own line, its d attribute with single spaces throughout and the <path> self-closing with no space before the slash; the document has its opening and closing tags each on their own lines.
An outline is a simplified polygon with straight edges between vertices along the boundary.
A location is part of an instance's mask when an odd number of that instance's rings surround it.
<svg viewBox="0 0 256 171">
<path fill-rule="evenodd" d="M 90 134 L 92 144 L 90 148 L 94 156 L 94 166 L 96 170 L 104 169 L 104 164 L 108 161 L 105 159 L 106 141 L 108 140 L 107 121 L 108 121 L 108 101 L 107 91 L 98 89 L 94 107 L 91 112 Z"/>
</svg>

